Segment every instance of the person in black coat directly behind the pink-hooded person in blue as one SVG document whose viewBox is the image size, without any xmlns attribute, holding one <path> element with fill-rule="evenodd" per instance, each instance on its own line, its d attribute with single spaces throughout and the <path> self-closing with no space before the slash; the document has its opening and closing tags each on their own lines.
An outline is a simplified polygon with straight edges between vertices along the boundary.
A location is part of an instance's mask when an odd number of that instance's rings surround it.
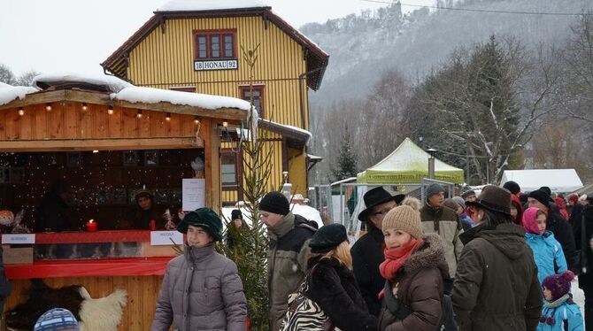
<svg viewBox="0 0 593 331">
<path fill-rule="evenodd" d="M 546 229 L 550 230 L 556 240 L 562 245 L 562 251 L 566 258 L 566 264 L 570 270 L 578 273 L 577 258 L 578 252 L 574 244 L 573 227 L 560 215 L 558 206 L 551 202 L 551 196 L 543 189 L 536 189 L 529 193 L 529 207 L 539 208 L 548 214 Z"/>
</svg>

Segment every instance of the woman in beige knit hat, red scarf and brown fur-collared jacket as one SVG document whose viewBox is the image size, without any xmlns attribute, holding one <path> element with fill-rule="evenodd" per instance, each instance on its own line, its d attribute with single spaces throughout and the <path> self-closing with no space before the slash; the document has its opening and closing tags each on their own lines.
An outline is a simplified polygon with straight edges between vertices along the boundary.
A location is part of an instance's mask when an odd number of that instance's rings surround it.
<svg viewBox="0 0 593 331">
<path fill-rule="evenodd" d="M 449 278 L 438 235 L 422 236 L 420 202 L 406 198 L 383 219 L 385 278 L 381 330 L 435 331 L 441 327 L 443 278 Z"/>
</svg>

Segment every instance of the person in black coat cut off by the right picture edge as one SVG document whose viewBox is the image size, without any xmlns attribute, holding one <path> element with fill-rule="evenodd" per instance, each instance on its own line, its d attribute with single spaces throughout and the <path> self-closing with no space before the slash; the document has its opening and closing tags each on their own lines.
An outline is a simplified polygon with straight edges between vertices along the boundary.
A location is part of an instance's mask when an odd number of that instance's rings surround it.
<svg viewBox="0 0 593 331">
<path fill-rule="evenodd" d="M 575 206 L 570 217 L 574 224 L 574 242 L 581 250 L 579 288 L 585 294 L 585 328 L 593 330 L 593 206 Z"/>
</svg>

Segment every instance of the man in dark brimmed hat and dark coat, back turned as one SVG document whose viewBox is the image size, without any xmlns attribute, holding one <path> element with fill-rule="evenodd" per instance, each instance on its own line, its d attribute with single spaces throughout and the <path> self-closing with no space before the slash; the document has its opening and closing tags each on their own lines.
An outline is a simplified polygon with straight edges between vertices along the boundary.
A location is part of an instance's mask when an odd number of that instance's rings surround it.
<svg viewBox="0 0 593 331">
<path fill-rule="evenodd" d="M 511 192 L 489 185 L 466 204 L 480 223 L 459 235 L 452 295 L 459 331 L 535 331 L 542 286 L 525 230 L 511 222 Z"/>
</svg>

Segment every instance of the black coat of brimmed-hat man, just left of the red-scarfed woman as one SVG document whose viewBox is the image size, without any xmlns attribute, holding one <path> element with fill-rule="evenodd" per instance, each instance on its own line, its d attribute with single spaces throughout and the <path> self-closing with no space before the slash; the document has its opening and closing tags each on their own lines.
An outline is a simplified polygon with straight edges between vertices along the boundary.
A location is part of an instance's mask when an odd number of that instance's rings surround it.
<svg viewBox="0 0 593 331">
<path fill-rule="evenodd" d="M 385 284 L 385 280 L 379 273 L 379 265 L 385 260 L 381 230 L 371 227 L 366 235 L 354 243 L 350 253 L 352 254 L 354 277 L 360 287 L 360 293 L 365 298 L 368 311 L 374 316 L 379 316 L 379 312 L 381 312 L 379 292 Z"/>
</svg>

